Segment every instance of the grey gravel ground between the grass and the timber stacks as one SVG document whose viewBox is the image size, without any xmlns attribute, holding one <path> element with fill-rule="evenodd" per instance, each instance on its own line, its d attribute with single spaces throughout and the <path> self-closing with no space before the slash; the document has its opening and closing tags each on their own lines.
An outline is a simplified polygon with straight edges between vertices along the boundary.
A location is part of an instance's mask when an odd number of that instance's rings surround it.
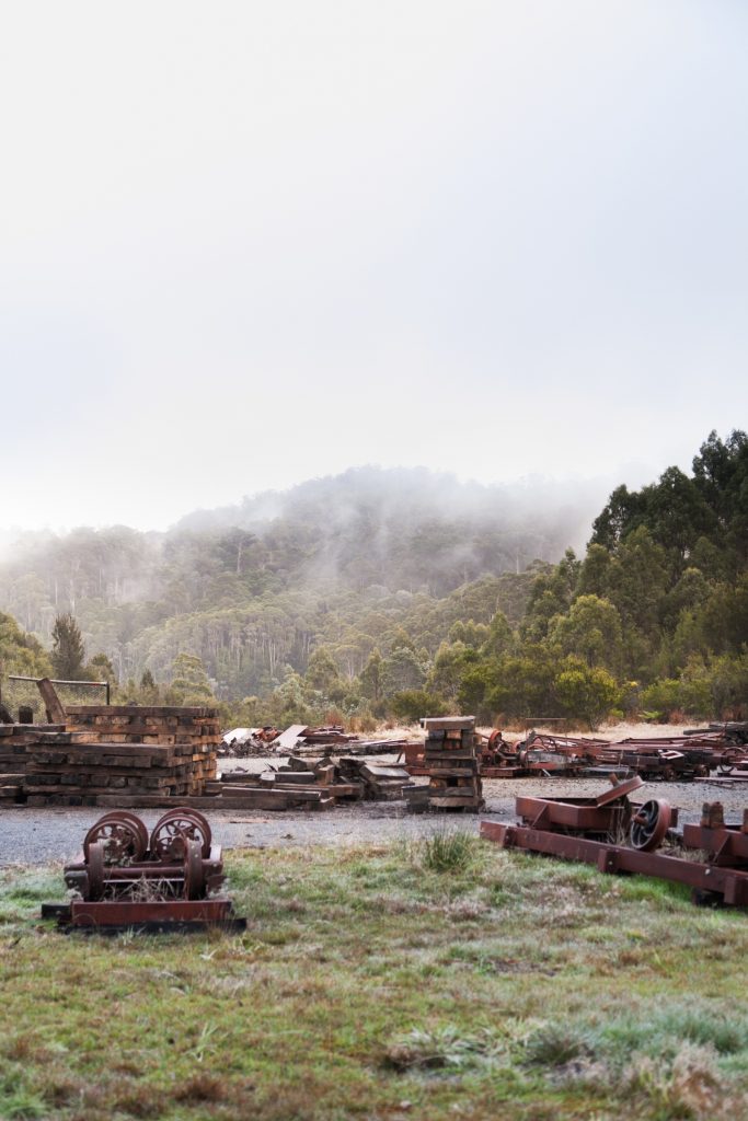
<svg viewBox="0 0 748 1121">
<path fill-rule="evenodd" d="M 380 760 L 381 761 L 381 760 Z M 262 770 L 266 760 L 241 760 L 240 766 Z M 224 769 L 228 769 L 224 767 Z M 424 780 L 416 780 L 424 781 Z M 358 844 L 426 836 L 449 826 L 477 833 L 480 821 L 514 821 L 515 798 L 536 795 L 551 798 L 591 798 L 609 789 L 602 779 L 489 779 L 483 782 L 487 809 L 480 815 L 408 814 L 403 802 L 340 805 L 323 813 L 225 810 L 211 813 L 213 835 L 224 849 L 258 849 L 307 844 Z M 680 808 L 680 821 L 695 822 L 703 802 L 720 800 L 728 821 L 740 821 L 748 805 L 748 784 L 735 789 L 698 782 L 650 782 L 637 791 L 637 800 L 666 798 Z M 0 867 L 67 861 L 81 850 L 83 837 L 104 810 L 93 808 L 0 809 Z M 164 813 L 144 809 L 148 828 Z"/>
</svg>

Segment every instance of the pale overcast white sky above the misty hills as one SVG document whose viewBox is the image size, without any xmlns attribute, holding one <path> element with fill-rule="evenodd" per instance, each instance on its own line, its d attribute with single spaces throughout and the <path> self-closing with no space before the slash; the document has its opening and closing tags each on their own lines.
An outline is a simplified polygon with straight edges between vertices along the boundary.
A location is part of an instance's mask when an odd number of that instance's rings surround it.
<svg viewBox="0 0 748 1121">
<path fill-rule="evenodd" d="M 3 527 L 748 427 L 744 0 L 0 15 Z"/>
</svg>

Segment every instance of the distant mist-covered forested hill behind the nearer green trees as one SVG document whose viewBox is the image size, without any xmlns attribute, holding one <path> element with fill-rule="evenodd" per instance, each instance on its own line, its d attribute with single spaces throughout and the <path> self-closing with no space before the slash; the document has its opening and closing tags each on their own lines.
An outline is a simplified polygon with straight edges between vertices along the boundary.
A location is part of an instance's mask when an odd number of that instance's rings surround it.
<svg viewBox="0 0 748 1121">
<path fill-rule="evenodd" d="M 362 469 L 200 511 L 163 535 L 29 537 L 0 566 L 0 609 L 47 648 L 70 612 L 121 683 L 168 682 L 187 652 L 219 696 L 262 695 L 304 674 L 320 646 L 352 680 L 398 627 L 426 664 L 455 621 L 500 608 L 518 623 L 527 565 L 583 539 L 591 509 L 552 484 Z"/>
</svg>

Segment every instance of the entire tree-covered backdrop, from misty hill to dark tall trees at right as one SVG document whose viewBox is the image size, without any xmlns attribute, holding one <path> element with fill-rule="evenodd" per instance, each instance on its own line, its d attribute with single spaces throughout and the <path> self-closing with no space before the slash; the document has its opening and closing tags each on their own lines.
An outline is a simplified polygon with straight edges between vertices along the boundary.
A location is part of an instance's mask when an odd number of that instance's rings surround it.
<svg viewBox="0 0 748 1121">
<path fill-rule="evenodd" d="M 122 697 L 213 694 L 243 723 L 745 706 L 746 434 L 616 489 L 579 559 L 583 525 L 557 495 L 366 469 L 164 535 L 40 536 L 0 566 L 6 671 L 43 671 L 71 614 Z"/>
</svg>

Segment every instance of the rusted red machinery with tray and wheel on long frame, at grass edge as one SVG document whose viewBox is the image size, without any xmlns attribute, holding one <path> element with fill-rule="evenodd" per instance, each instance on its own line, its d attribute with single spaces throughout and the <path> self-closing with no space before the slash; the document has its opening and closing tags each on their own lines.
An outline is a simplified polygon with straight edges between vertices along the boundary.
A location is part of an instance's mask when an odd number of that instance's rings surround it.
<svg viewBox="0 0 748 1121">
<path fill-rule="evenodd" d="M 748 810 L 726 824 L 721 803 L 704 803 L 701 822 L 676 832 L 664 799 L 632 803 L 639 776 L 598 798 L 517 798 L 517 823 L 481 822 L 482 837 L 504 849 L 640 873 L 687 884 L 695 902 L 748 906 Z"/>
</svg>

